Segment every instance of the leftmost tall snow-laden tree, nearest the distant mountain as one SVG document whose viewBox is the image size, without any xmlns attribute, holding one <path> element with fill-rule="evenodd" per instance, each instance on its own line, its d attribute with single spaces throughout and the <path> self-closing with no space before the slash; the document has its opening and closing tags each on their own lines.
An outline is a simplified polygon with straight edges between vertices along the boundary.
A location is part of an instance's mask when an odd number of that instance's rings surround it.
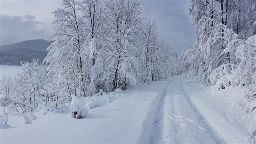
<svg viewBox="0 0 256 144">
<path fill-rule="evenodd" d="M 50 37 L 55 40 L 48 47 L 48 55 L 44 59 L 49 64 L 48 70 L 54 67 L 65 69 L 73 81 L 72 94 L 84 97 L 85 74 L 83 43 L 85 41 L 82 18 L 78 15 L 78 6 L 75 0 L 64 0 L 63 8 L 53 12 L 56 32 Z"/>
</svg>

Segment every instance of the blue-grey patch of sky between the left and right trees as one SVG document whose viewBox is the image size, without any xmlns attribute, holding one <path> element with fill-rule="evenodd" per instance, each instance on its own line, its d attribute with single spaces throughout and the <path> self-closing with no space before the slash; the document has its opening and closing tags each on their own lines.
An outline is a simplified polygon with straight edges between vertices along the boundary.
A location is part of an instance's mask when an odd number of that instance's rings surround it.
<svg viewBox="0 0 256 144">
<path fill-rule="evenodd" d="M 159 38 L 172 45 L 178 54 L 194 44 L 196 28 L 188 13 L 190 1 L 141 0 L 144 15 L 157 21 Z"/>
</svg>

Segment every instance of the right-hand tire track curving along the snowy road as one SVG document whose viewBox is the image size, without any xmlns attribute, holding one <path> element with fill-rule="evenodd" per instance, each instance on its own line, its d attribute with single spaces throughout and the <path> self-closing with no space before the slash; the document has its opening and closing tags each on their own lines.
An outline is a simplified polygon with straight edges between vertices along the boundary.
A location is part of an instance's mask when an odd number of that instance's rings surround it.
<svg viewBox="0 0 256 144">
<path fill-rule="evenodd" d="M 196 105 L 194 105 L 192 100 L 188 97 L 188 95 L 184 91 L 184 88 L 182 85 L 182 78 L 180 78 L 180 87 L 181 87 L 182 93 L 184 94 L 186 101 L 188 102 L 188 104 L 190 104 L 190 107 L 193 109 L 194 113 L 196 113 L 196 115 L 198 116 L 198 119 L 200 120 L 198 122 L 201 122 L 201 124 L 203 124 L 204 128 L 207 129 L 207 132 L 212 136 L 212 138 L 215 140 L 215 142 L 226 143 L 225 140 L 221 139 L 219 137 L 219 135 L 214 131 L 212 126 L 209 124 L 209 122 L 204 118 L 204 115 L 199 112 Z"/>
</svg>

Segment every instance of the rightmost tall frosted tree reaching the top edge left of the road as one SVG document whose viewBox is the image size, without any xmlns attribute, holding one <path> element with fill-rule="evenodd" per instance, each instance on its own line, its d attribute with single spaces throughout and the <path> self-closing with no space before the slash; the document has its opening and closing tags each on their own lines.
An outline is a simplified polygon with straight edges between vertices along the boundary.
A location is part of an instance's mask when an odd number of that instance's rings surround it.
<svg viewBox="0 0 256 144">
<path fill-rule="evenodd" d="M 134 30 L 142 18 L 141 6 L 138 1 L 110 1 L 107 5 L 106 19 L 109 36 L 105 50 L 109 66 L 104 78 L 109 81 L 107 87 L 112 90 L 126 87 L 127 83 L 136 84 L 134 67 L 137 65 L 133 51 L 137 47 L 133 44 Z"/>
</svg>

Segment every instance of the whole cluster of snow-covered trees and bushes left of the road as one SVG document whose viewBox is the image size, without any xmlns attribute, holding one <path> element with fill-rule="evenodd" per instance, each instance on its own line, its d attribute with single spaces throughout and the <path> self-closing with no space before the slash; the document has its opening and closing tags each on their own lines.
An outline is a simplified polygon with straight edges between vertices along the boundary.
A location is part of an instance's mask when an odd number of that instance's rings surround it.
<svg viewBox="0 0 256 144">
<path fill-rule="evenodd" d="M 4 100 L 27 124 L 33 112 L 66 103 L 73 118 L 84 118 L 83 97 L 180 73 L 177 54 L 158 39 L 156 22 L 142 18 L 139 1 L 63 0 L 52 13 L 43 64 L 23 63 L 14 79 L 0 81 Z"/>
</svg>

